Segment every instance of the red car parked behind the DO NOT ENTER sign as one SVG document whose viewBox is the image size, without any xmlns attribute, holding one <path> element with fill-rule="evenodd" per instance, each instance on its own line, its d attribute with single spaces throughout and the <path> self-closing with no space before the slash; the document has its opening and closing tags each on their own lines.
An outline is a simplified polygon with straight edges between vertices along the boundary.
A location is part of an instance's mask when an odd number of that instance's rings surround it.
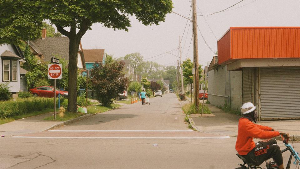
<svg viewBox="0 0 300 169">
<path fill-rule="evenodd" d="M 54 97 L 54 87 L 53 86 L 39 86 L 33 89 L 29 89 L 33 96 L 40 97 Z M 68 98 L 68 92 L 59 90 L 60 96 Z M 58 96 L 58 89 L 56 88 L 56 97 Z"/>
</svg>

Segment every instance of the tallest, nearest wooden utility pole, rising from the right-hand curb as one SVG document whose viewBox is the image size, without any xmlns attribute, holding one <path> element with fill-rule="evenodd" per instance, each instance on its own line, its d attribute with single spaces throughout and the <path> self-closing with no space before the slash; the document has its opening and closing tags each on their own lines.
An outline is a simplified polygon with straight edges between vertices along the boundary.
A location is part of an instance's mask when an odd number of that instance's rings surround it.
<svg viewBox="0 0 300 169">
<path fill-rule="evenodd" d="M 196 9 L 196 0 L 192 0 L 193 8 L 193 39 L 194 39 L 194 68 L 195 68 L 195 82 L 194 82 L 194 91 L 195 91 L 195 106 L 196 111 L 199 111 L 199 63 L 198 63 L 198 34 L 197 34 L 197 9 Z"/>
</svg>

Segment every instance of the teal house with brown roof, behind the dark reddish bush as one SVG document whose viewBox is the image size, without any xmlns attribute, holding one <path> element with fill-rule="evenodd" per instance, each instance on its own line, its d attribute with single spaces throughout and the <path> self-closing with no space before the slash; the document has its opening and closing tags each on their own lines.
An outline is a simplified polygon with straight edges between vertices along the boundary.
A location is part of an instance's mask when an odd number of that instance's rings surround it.
<svg viewBox="0 0 300 169">
<path fill-rule="evenodd" d="M 106 55 L 104 49 L 83 49 L 83 54 L 87 70 L 93 69 L 94 64 L 97 62 L 105 64 Z M 83 75 L 86 74 L 86 72 L 83 72 Z"/>
</svg>

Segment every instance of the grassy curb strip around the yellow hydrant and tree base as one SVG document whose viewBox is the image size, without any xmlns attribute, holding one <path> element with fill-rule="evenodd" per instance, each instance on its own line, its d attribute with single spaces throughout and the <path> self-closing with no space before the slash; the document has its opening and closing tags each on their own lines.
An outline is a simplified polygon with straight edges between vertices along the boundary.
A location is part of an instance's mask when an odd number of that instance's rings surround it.
<svg viewBox="0 0 300 169">
<path fill-rule="evenodd" d="M 91 106 L 88 106 L 88 113 L 89 114 L 95 114 L 95 113 L 103 113 L 103 112 L 106 112 L 108 110 L 113 110 L 113 109 L 116 109 L 118 107 L 121 107 L 121 105 L 118 105 L 118 104 L 113 104 L 113 105 L 110 105 L 110 106 L 103 106 L 103 105 L 91 105 Z M 86 115 L 85 113 L 64 113 L 64 117 L 59 117 L 59 114 L 56 115 L 56 119 L 54 119 L 53 116 L 51 117 L 46 117 L 45 119 L 43 120 L 55 120 L 55 121 L 67 121 L 67 120 L 72 120 L 72 119 L 75 119 L 77 117 L 80 117 L 80 116 L 83 116 L 83 115 Z"/>
</svg>

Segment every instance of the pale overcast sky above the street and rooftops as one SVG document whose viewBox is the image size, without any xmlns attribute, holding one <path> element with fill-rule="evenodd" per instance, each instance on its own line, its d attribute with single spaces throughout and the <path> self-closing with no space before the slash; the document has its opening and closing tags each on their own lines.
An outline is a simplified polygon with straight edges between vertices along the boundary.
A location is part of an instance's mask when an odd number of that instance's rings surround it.
<svg viewBox="0 0 300 169">
<path fill-rule="evenodd" d="M 229 27 L 243 26 L 300 26 L 299 0 L 197 0 L 197 23 L 200 31 L 212 51 L 217 51 L 217 40 Z M 238 3 L 225 12 L 218 12 Z M 188 16 L 191 9 L 190 0 L 173 0 L 173 12 Z M 240 8 L 239 8 L 240 7 Z M 201 12 L 201 13 L 200 13 Z M 192 17 L 192 12 L 190 18 Z M 205 21 L 206 20 L 206 21 Z M 186 27 L 187 24 L 187 27 Z M 134 17 L 129 32 L 108 29 L 103 24 L 96 23 L 88 30 L 81 42 L 83 49 L 105 49 L 115 58 L 126 54 L 139 52 L 144 59 L 171 51 L 178 56 L 179 36 L 183 36 L 182 57 L 192 59 L 193 44 L 192 23 L 177 14 L 171 13 L 160 25 L 144 26 Z M 184 31 L 186 27 L 186 30 Z M 183 34 L 184 33 L 184 34 Z M 213 57 L 212 51 L 204 43 L 198 30 L 199 64 L 207 65 Z M 177 57 L 172 54 L 162 54 L 149 61 L 163 65 L 176 65 Z"/>
</svg>

